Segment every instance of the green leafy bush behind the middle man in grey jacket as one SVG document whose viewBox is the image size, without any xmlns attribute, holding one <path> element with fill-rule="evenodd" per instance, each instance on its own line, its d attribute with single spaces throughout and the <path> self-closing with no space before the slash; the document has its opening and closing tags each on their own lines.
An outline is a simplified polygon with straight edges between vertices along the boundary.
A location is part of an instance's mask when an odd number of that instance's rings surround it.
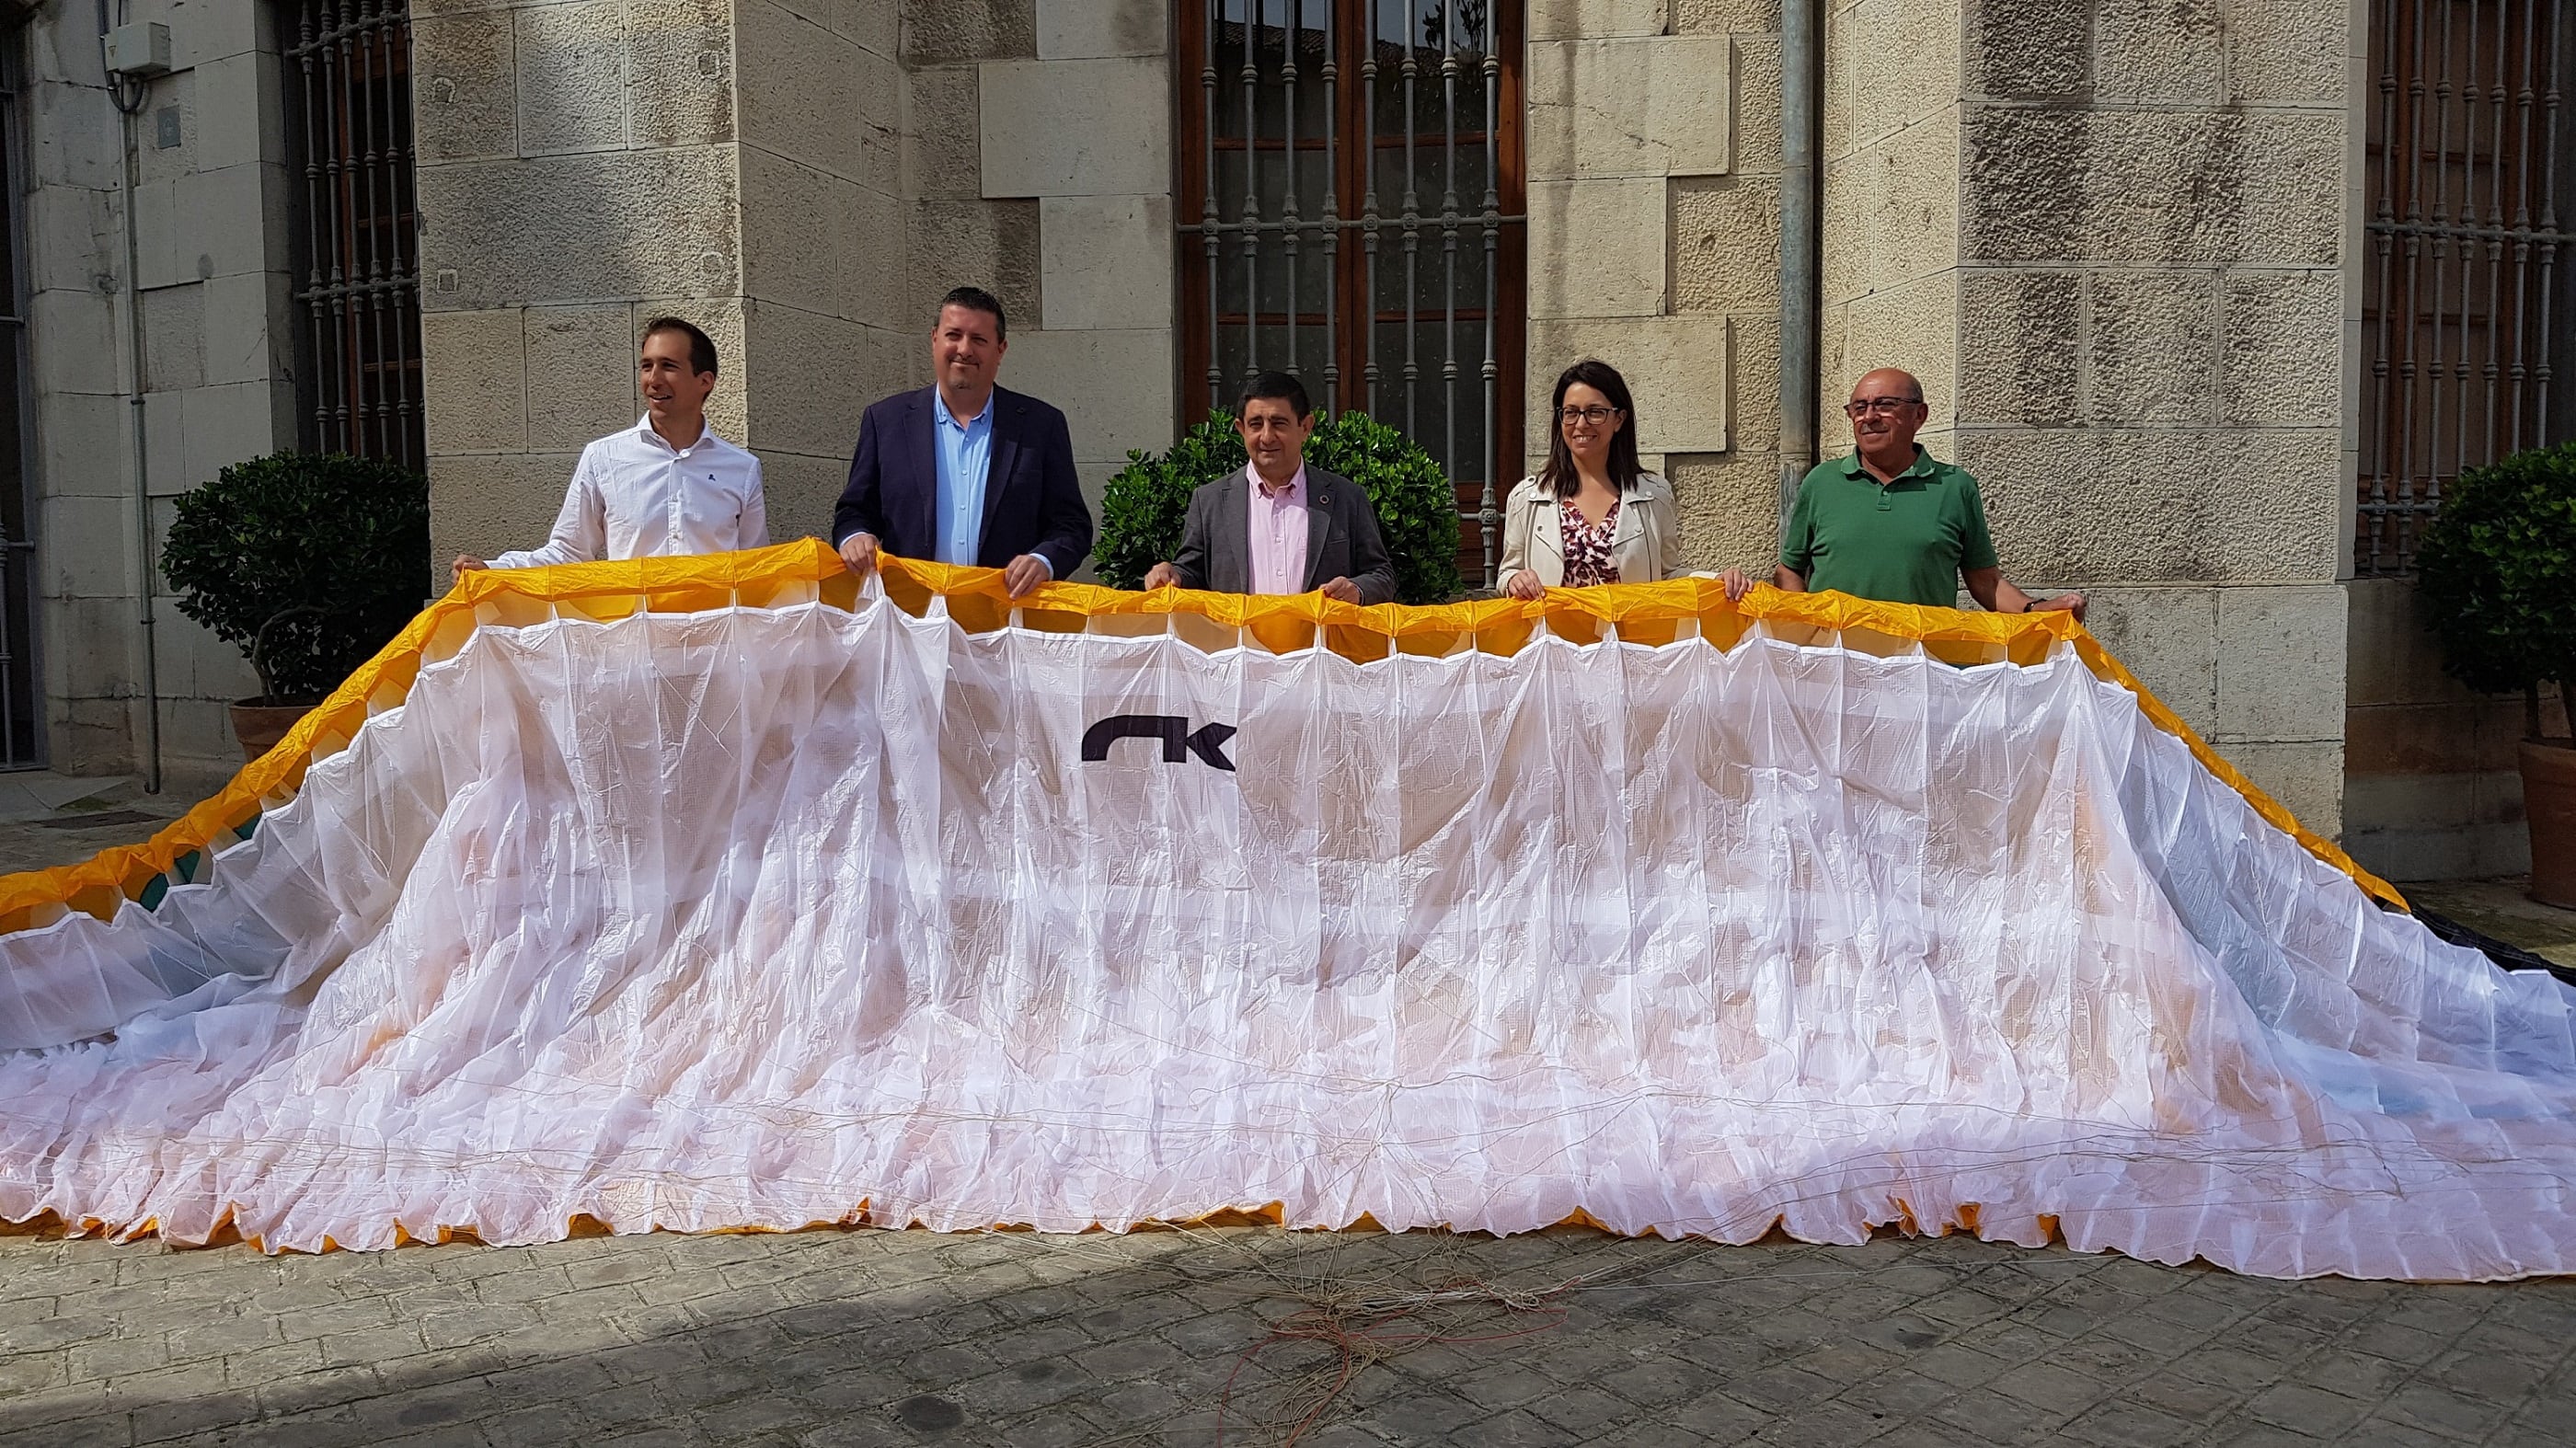
<svg viewBox="0 0 2576 1448">
<path fill-rule="evenodd" d="M 1396 567 L 1396 603 L 1443 603 L 1458 595 L 1458 495 L 1448 474 L 1404 433 L 1342 412 L 1306 438 L 1306 461 L 1368 490 L 1378 533 Z M 1146 569 L 1180 551 L 1190 492 L 1244 466 L 1234 420 L 1211 412 L 1170 453 L 1128 453 L 1100 500 L 1092 567 L 1110 587 L 1141 587 Z"/>
</svg>

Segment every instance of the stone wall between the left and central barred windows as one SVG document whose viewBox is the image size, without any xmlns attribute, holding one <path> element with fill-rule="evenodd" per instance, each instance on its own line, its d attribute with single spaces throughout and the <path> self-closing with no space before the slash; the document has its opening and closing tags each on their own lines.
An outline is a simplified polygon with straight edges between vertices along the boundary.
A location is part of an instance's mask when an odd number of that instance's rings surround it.
<svg viewBox="0 0 2576 1448">
<path fill-rule="evenodd" d="M 536 541 L 634 423 L 654 312 L 726 356 L 770 531 L 824 533 L 943 291 L 1010 312 L 1097 505 L 1172 441 L 1170 15 L 1157 0 L 415 0 L 440 557 Z"/>
</svg>

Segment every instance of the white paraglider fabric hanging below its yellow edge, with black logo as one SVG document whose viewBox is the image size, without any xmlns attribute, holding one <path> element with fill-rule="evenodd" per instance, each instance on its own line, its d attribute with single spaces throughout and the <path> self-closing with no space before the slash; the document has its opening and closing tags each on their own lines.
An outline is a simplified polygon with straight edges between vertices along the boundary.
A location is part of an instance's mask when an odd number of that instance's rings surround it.
<svg viewBox="0 0 2576 1448">
<path fill-rule="evenodd" d="M 2063 647 L 487 624 L 0 982 L 0 1216 L 173 1239 L 1275 1206 L 2576 1270 L 2576 992 Z"/>
</svg>

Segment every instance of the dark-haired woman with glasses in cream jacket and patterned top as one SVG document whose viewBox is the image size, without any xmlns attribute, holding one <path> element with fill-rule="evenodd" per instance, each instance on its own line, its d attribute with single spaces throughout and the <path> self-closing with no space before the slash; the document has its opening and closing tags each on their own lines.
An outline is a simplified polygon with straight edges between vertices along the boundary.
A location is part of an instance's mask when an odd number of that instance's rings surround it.
<svg viewBox="0 0 2576 1448">
<path fill-rule="evenodd" d="M 1636 461 L 1628 381 L 1584 358 L 1556 379 L 1548 466 L 1502 505 L 1502 593 L 1656 582 L 1680 572 L 1672 484 Z"/>
</svg>

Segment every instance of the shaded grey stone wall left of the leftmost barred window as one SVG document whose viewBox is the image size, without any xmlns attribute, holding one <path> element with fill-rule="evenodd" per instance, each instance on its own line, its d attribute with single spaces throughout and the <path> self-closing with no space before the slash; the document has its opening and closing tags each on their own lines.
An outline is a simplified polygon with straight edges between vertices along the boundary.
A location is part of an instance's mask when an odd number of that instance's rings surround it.
<svg viewBox="0 0 2576 1448">
<path fill-rule="evenodd" d="M 173 70 L 137 116 L 137 268 L 152 557 L 173 500 L 227 464 L 296 446 L 281 59 L 270 5 L 139 0 L 170 26 Z M 33 410 L 39 680 L 64 773 L 126 773 L 144 752 L 126 314 L 124 131 L 98 18 L 49 5 L 18 41 L 21 229 Z M 13 567 L 18 562 L 13 559 Z M 240 652 L 178 616 L 155 582 L 162 763 L 173 791 L 240 765 L 224 703 L 258 693 Z"/>
</svg>

